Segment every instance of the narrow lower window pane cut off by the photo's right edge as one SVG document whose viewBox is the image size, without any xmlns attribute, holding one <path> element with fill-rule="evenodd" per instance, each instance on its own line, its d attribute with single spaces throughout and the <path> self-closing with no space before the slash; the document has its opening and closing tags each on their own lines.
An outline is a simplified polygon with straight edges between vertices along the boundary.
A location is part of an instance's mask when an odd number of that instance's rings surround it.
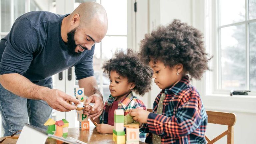
<svg viewBox="0 0 256 144">
<path fill-rule="evenodd" d="M 249 24 L 250 90 L 256 90 L 256 23 Z"/>
</svg>

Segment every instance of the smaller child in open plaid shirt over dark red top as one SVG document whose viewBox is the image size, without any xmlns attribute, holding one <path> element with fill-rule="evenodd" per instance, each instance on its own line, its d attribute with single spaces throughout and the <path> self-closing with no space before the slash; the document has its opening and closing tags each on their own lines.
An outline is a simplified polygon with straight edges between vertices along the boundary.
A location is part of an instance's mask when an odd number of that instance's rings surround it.
<svg viewBox="0 0 256 144">
<path fill-rule="evenodd" d="M 149 66 L 142 64 L 137 55 L 128 49 L 115 53 L 115 56 L 106 61 L 102 67 L 104 72 L 109 74 L 109 90 L 111 95 L 107 99 L 100 118 L 91 119 L 91 121 L 100 123 L 97 125 L 97 131 L 102 134 L 111 134 L 114 129 L 114 110 L 123 109 L 124 115 L 129 113 L 130 109 L 144 109 L 146 106 L 133 95 L 133 92 L 144 95 L 151 87 L 153 71 Z M 133 92 L 132 92 L 133 91 Z M 84 112 L 89 113 L 91 107 L 85 108 Z M 141 134 L 140 138 L 145 138 Z"/>
</svg>

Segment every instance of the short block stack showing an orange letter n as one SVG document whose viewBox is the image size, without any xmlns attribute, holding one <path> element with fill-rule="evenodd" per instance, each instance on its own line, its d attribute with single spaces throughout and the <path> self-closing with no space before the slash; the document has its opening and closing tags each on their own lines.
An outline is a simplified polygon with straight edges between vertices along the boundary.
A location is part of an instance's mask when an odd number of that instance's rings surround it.
<svg viewBox="0 0 256 144">
<path fill-rule="evenodd" d="M 139 124 L 124 126 L 126 127 L 126 144 L 139 144 Z"/>
</svg>

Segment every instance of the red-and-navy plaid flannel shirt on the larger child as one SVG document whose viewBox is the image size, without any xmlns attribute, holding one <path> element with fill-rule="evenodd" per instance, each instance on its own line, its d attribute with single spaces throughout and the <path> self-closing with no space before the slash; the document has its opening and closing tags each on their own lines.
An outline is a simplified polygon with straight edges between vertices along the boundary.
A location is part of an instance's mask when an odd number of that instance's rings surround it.
<svg viewBox="0 0 256 144">
<path fill-rule="evenodd" d="M 162 115 L 156 114 L 161 94 L 165 93 Z M 161 137 L 162 144 L 205 144 L 208 116 L 195 87 L 185 76 L 171 88 L 162 90 L 153 104 L 147 124 L 141 132 L 149 133 L 147 143 L 152 143 L 152 133 Z"/>
</svg>

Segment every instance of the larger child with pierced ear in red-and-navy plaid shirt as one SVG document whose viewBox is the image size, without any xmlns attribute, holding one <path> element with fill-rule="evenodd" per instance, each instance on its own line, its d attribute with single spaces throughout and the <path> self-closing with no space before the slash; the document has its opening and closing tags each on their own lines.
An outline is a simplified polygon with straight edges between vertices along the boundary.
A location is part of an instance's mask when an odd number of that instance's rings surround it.
<svg viewBox="0 0 256 144">
<path fill-rule="evenodd" d="M 206 143 L 208 117 L 198 91 L 189 82 L 209 70 L 202 39 L 199 30 L 174 20 L 141 41 L 140 59 L 153 69 L 154 82 L 162 89 L 152 113 L 130 110 L 134 120 L 144 123 L 141 131 L 149 133 L 147 143 Z"/>
</svg>

